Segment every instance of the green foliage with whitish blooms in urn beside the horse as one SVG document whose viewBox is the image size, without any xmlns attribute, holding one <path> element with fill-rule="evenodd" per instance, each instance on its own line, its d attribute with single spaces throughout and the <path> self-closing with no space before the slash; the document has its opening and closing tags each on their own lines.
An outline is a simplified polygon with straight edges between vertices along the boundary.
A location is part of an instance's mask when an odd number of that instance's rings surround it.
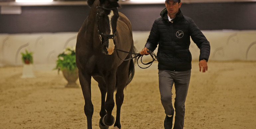
<svg viewBox="0 0 256 129">
<path fill-rule="evenodd" d="M 57 65 L 55 69 L 74 71 L 77 67 L 75 64 L 75 47 L 67 47 L 63 53 L 58 55 Z"/>
</svg>

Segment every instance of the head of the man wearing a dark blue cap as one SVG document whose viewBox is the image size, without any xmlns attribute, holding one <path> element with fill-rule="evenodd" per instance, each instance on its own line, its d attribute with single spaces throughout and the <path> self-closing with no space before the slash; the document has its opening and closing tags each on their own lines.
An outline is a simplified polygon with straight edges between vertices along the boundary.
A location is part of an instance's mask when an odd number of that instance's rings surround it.
<svg viewBox="0 0 256 129">
<path fill-rule="evenodd" d="M 181 7 L 181 2 L 174 2 L 173 0 L 168 0 L 165 2 L 166 9 L 168 11 L 168 15 L 170 17 L 175 17 L 179 12 L 179 8 Z"/>
</svg>

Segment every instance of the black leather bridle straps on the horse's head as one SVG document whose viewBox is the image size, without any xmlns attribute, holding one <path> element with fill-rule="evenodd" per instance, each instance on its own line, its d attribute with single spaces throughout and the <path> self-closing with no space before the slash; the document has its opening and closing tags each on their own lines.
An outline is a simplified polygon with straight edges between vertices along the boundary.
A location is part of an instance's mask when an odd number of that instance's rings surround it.
<svg viewBox="0 0 256 129">
<path fill-rule="evenodd" d="M 105 7 L 102 7 L 102 6 L 97 6 L 96 8 L 101 8 L 101 9 L 109 10 L 109 11 L 117 9 L 116 7 L 115 8 L 105 8 Z M 98 35 L 99 35 L 99 39 L 100 39 L 101 44 L 103 44 L 108 39 L 113 39 L 114 40 L 115 37 L 116 37 L 116 31 L 114 32 L 114 34 L 105 34 L 103 32 L 100 32 L 100 29 L 99 29 L 99 13 L 98 12 L 96 14 L 96 17 L 97 17 L 97 19 L 96 19 L 97 20 L 97 31 L 98 31 Z M 118 14 L 118 17 L 119 17 L 119 14 Z M 104 41 L 102 41 L 103 36 L 107 38 Z"/>
</svg>

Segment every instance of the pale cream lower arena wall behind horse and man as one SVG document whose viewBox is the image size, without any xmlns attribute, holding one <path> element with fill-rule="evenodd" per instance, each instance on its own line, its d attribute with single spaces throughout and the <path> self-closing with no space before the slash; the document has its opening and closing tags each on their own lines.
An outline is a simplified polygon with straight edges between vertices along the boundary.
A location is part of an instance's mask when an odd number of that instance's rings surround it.
<svg viewBox="0 0 256 129">
<path fill-rule="evenodd" d="M 256 30 L 202 31 L 211 45 L 209 61 L 256 61 Z M 140 51 L 149 31 L 133 31 L 135 47 Z M 23 65 L 21 52 L 34 52 L 35 69 L 53 69 L 57 56 L 67 46 L 76 43 L 77 32 L 0 34 L 0 66 Z M 199 58 L 199 49 L 191 40 L 193 61 Z M 157 49 L 154 51 L 157 53 Z M 144 56 L 144 61 L 150 61 Z"/>
</svg>

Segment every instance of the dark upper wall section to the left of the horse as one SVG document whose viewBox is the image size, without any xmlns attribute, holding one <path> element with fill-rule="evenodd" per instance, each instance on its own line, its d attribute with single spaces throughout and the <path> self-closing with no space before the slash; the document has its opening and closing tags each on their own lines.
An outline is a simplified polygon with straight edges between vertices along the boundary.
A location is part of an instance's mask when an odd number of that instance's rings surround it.
<svg viewBox="0 0 256 129">
<path fill-rule="evenodd" d="M 20 15 L 0 15 L 0 33 L 79 31 L 88 11 L 87 6 L 24 6 Z"/>
</svg>

